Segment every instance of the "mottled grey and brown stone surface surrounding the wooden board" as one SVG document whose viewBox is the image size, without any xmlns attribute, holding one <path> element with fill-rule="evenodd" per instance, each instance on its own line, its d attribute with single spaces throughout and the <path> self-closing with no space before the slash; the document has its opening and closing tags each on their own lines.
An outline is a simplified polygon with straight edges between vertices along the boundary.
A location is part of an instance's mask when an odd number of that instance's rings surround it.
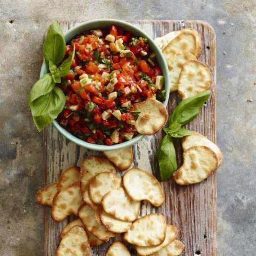
<svg viewBox="0 0 256 256">
<path fill-rule="evenodd" d="M 193 2 L 193 3 L 192 3 Z M 0 0 L 0 255 L 43 255 L 42 134 L 27 95 L 51 20 L 206 20 L 217 38 L 218 255 L 256 252 L 255 0 Z M 250 102 L 252 100 L 252 102 Z"/>
</svg>

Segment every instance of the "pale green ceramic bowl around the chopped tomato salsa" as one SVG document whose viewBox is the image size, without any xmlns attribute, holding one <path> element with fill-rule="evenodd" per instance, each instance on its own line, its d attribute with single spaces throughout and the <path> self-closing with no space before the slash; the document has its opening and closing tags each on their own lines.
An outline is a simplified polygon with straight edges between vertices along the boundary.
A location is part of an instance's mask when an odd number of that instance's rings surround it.
<svg viewBox="0 0 256 256">
<path fill-rule="evenodd" d="M 167 63 L 165 61 L 165 58 L 162 54 L 162 52 L 159 50 L 159 48 L 156 46 L 154 40 L 150 38 L 144 31 L 142 31 L 140 28 L 133 26 L 132 24 L 121 21 L 121 20 L 113 20 L 113 19 L 98 19 L 98 20 L 90 20 L 87 22 L 83 22 L 79 24 L 76 27 L 73 27 L 69 29 L 65 33 L 65 39 L 66 42 L 69 42 L 72 40 L 77 34 L 80 34 L 83 31 L 90 30 L 90 29 L 97 29 L 99 27 L 105 28 L 110 27 L 112 24 L 115 24 L 117 26 L 123 27 L 125 30 L 131 31 L 135 36 L 141 36 L 148 38 L 148 44 L 152 52 L 156 54 L 156 59 L 159 63 L 159 66 L 162 70 L 162 74 L 164 76 L 165 81 L 165 89 L 166 89 L 166 100 L 163 102 L 164 106 L 167 106 L 168 98 L 169 98 L 169 89 L 170 89 L 170 81 L 169 81 L 169 75 L 168 75 L 168 67 Z M 40 78 L 48 73 L 48 67 L 45 62 L 43 62 L 43 65 L 41 67 L 40 72 Z M 113 149 L 120 149 L 125 148 L 128 146 L 131 146 L 138 141 L 140 141 L 144 136 L 143 135 L 137 135 L 135 138 L 131 139 L 130 141 L 125 141 L 120 144 L 115 144 L 112 146 L 107 145 L 97 145 L 97 144 L 91 144 L 86 141 L 82 141 L 81 139 L 75 137 L 74 135 L 70 134 L 66 129 L 62 128 L 56 120 L 53 121 L 53 124 L 55 128 L 64 135 L 68 140 L 73 141 L 75 144 L 80 145 L 82 147 L 97 150 L 97 151 L 107 151 L 107 150 L 113 150 Z"/>
</svg>

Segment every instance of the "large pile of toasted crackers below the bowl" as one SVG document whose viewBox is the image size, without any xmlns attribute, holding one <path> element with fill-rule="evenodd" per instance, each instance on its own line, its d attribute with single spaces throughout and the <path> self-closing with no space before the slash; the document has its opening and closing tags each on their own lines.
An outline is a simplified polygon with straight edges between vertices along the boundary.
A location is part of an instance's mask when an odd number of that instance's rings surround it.
<svg viewBox="0 0 256 256">
<path fill-rule="evenodd" d="M 110 245 L 107 256 L 131 255 L 126 244 L 141 256 L 178 256 L 184 245 L 176 240 L 178 230 L 159 213 L 140 216 L 141 201 L 161 206 L 165 195 L 154 175 L 138 167 L 121 177 L 133 163 L 132 148 L 104 152 L 105 157 L 89 156 L 81 168 L 70 167 L 59 182 L 38 191 L 39 204 L 51 206 L 54 221 L 75 215 L 61 231 L 57 256 L 89 256 L 90 248 L 121 234 L 123 242 Z"/>
</svg>

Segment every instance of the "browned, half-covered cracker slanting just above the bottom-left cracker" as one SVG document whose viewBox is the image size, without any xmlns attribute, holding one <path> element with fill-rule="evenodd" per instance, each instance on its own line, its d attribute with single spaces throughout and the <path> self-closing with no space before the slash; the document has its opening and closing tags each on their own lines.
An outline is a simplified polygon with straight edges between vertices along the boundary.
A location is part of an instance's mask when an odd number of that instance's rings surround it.
<svg viewBox="0 0 256 256">
<path fill-rule="evenodd" d="M 78 216 L 85 228 L 101 241 L 107 242 L 115 233 L 110 232 L 106 227 L 96 221 L 94 209 L 84 204 L 78 211 Z"/>
</svg>

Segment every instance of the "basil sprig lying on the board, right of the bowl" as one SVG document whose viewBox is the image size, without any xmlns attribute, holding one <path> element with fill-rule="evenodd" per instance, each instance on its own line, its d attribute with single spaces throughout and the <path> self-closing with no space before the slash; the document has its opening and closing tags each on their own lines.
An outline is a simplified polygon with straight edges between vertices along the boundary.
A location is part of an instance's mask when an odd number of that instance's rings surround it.
<svg viewBox="0 0 256 256">
<path fill-rule="evenodd" d="M 178 168 L 172 137 L 182 138 L 191 134 L 188 129 L 182 128 L 182 126 L 199 114 L 203 103 L 208 100 L 210 94 L 210 90 L 207 90 L 181 101 L 170 115 L 169 127 L 164 129 L 166 135 L 163 137 L 156 154 L 162 182 L 168 180 Z"/>
</svg>

